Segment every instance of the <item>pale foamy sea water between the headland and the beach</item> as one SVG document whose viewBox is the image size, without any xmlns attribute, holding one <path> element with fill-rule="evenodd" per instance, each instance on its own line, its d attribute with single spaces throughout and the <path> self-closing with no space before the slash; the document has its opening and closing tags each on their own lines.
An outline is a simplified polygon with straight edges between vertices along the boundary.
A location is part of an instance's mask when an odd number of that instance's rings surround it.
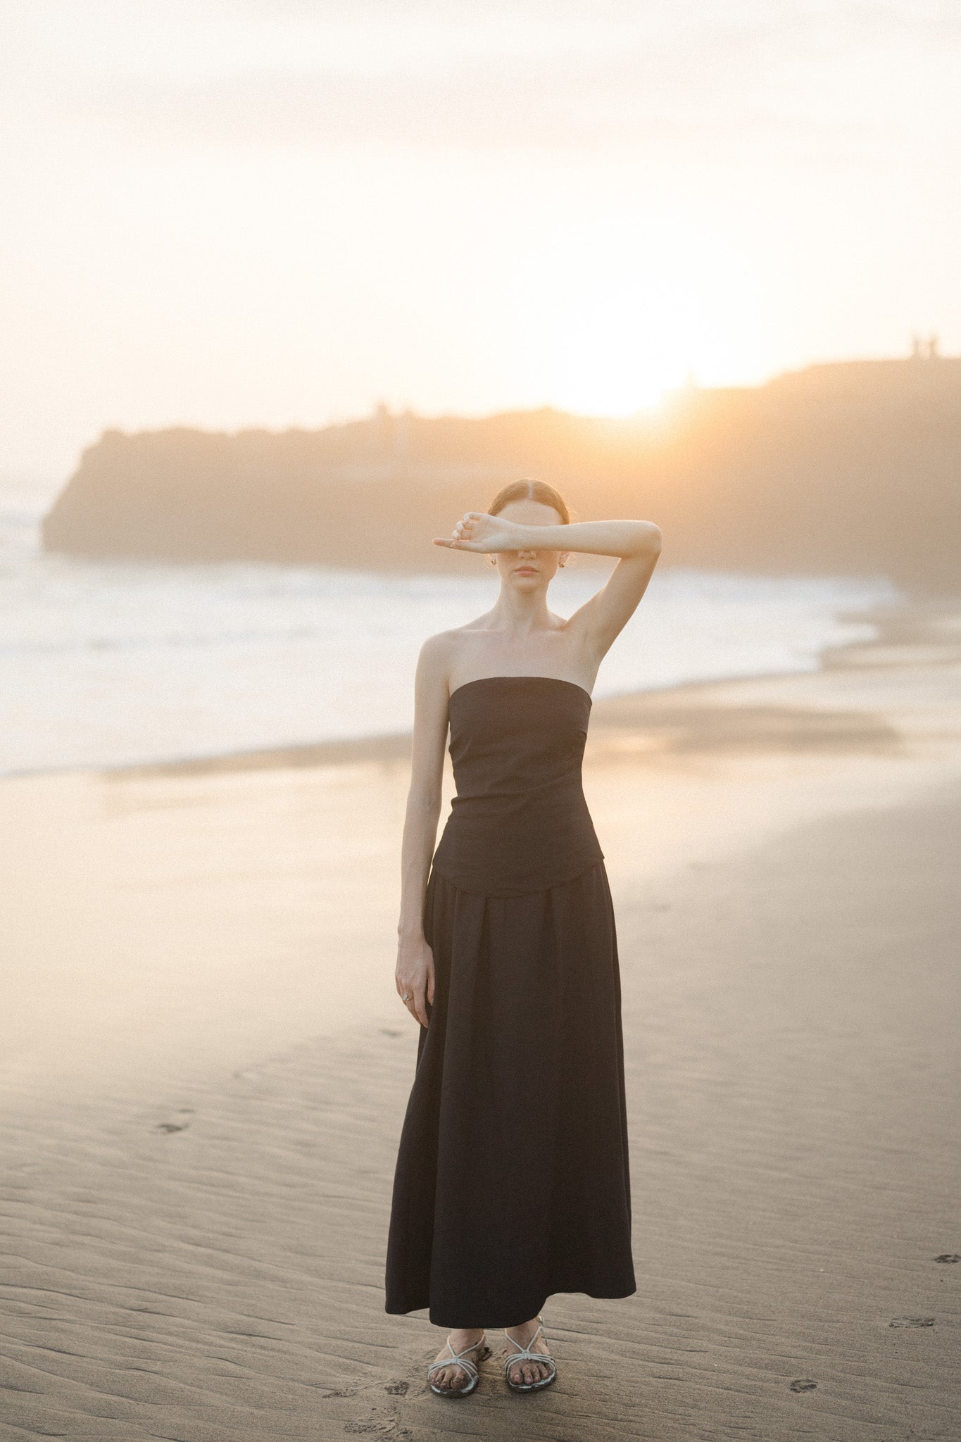
<svg viewBox="0 0 961 1442">
<path fill-rule="evenodd" d="M 474 555 L 462 578 L 45 555 L 48 503 L 0 490 L 6 776 L 408 731 L 422 640 L 497 596 L 493 570 Z M 559 572 L 552 610 L 569 616 L 608 568 Z M 875 634 L 859 611 L 896 600 L 883 577 L 661 562 L 594 695 L 811 671 L 824 646 Z"/>
</svg>

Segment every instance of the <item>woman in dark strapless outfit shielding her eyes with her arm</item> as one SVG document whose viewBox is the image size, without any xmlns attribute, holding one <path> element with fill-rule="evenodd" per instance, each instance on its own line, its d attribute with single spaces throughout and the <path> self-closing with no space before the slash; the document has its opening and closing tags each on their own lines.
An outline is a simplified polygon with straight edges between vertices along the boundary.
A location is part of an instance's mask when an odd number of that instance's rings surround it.
<svg viewBox="0 0 961 1442">
<path fill-rule="evenodd" d="M 421 1032 L 386 1311 L 450 1328 L 428 1368 L 441 1396 L 474 1390 L 493 1327 L 507 1384 L 547 1386 L 546 1298 L 635 1291 L 617 937 L 581 760 L 660 542 L 647 521 L 575 523 L 527 480 L 435 539 L 500 574 L 490 611 L 421 650 L 402 845 L 396 985 Z M 565 620 L 547 585 L 573 551 L 620 561 Z M 457 796 L 431 855 L 448 725 Z"/>
</svg>

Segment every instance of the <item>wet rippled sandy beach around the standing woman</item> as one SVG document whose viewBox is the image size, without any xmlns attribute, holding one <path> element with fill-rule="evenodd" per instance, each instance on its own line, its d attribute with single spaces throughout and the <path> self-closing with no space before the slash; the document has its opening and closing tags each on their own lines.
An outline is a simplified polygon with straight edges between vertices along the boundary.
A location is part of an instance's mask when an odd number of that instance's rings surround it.
<svg viewBox="0 0 961 1442">
<path fill-rule="evenodd" d="M 594 707 L 638 1291 L 537 1396 L 383 1312 L 408 738 L 1 782 L 0 1436 L 957 1442 L 961 616 L 879 622 Z"/>
</svg>

